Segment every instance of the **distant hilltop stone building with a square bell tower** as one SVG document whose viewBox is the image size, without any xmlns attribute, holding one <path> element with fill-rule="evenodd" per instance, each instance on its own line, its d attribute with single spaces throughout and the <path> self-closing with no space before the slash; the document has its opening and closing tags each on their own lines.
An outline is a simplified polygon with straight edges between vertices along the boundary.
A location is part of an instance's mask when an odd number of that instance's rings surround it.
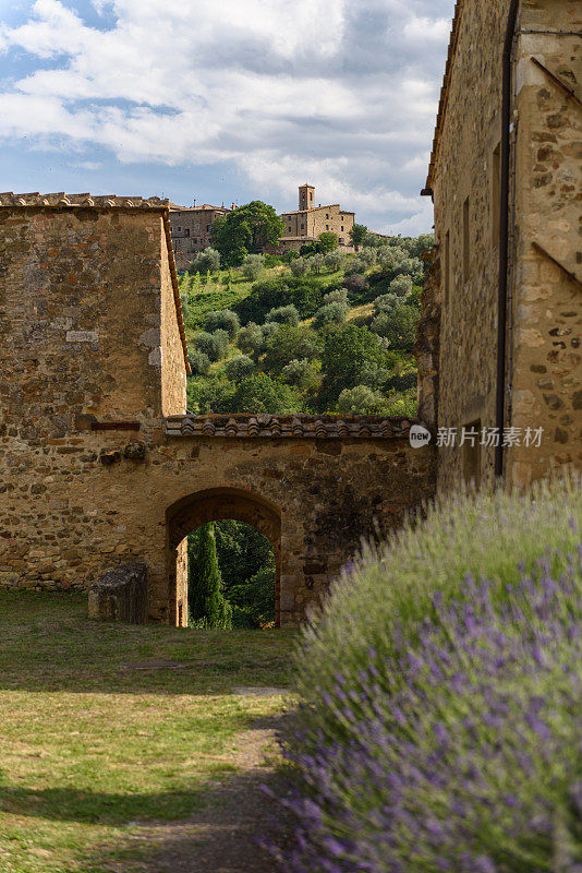
<svg viewBox="0 0 582 873">
<path fill-rule="evenodd" d="M 336 234 L 342 251 L 352 252 L 350 230 L 354 226 L 355 213 L 340 208 L 338 203 L 329 206 L 315 205 L 315 188 L 302 184 L 299 189 L 299 210 L 281 215 L 284 232 L 279 240 L 279 251 L 299 251 L 302 246 L 317 242 L 319 234 L 330 230 Z"/>
</svg>

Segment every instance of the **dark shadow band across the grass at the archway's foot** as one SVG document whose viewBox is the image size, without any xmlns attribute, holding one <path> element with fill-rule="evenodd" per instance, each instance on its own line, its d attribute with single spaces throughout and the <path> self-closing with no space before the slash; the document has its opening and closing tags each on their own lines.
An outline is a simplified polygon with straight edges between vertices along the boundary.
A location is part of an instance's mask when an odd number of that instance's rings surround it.
<svg viewBox="0 0 582 873">
<path fill-rule="evenodd" d="M 216 695 L 290 683 L 293 630 L 110 624 L 86 608 L 83 594 L 0 591 L 0 687 Z"/>
</svg>

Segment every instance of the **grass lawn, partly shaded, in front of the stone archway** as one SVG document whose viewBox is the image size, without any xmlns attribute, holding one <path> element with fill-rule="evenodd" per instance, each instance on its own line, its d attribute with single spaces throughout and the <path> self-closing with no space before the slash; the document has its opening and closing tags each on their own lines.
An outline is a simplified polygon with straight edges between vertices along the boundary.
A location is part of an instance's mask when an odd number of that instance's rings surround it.
<svg viewBox="0 0 582 873">
<path fill-rule="evenodd" d="M 201 809 L 290 679 L 292 631 L 89 622 L 80 594 L 0 591 L 0 634 L 2 873 L 141 870 L 132 835 Z"/>
</svg>

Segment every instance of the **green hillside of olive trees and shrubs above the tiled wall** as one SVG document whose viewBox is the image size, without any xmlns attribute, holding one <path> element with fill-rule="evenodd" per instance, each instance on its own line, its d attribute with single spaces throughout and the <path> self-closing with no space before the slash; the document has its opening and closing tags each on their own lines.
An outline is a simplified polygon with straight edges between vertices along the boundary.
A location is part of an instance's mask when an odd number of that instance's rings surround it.
<svg viewBox="0 0 582 873">
<path fill-rule="evenodd" d="M 189 408 L 415 415 L 419 255 L 433 239 L 366 242 L 355 255 L 185 273 Z"/>
</svg>

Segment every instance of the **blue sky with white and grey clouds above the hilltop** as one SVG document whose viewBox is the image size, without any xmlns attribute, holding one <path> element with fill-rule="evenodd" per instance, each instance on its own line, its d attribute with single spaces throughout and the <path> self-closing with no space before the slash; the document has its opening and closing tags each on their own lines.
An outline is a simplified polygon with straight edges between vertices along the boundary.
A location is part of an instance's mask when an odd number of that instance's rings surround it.
<svg viewBox="0 0 582 873">
<path fill-rule="evenodd" d="M 454 0 L 0 0 L 0 191 L 263 200 L 383 234 L 424 187 Z"/>
</svg>

